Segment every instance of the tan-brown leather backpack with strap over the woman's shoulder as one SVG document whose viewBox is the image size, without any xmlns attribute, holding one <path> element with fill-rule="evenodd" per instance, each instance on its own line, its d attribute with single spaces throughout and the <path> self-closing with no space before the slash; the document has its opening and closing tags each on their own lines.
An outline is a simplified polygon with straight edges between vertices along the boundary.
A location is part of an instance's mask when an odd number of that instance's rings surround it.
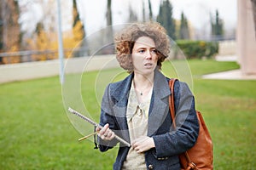
<svg viewBox="0 0 256 170">
<path fill-rule="evenodd" d="M 175 109 L 174 109 L 174 82 L 177 79 L 171 79 L 169 81 L 169 86 L 171 88 L 172 94 L 169 98 L 169 107 L 171 111 L 172 120 L 175 120 Z M 212 150 L 212 139 L 210 133 L 208 132 L 207 125 L 201 116 L 200 111 L 196 111 L 198 122 L 200 125 L 198 138 L 195 145 L 185 151 L 183 154 L 179 155 L 179 161 L 182 169 L 213 169 L 213 150 Z M 175 121 L 173 121 L 174 127 L 176 127 Z"/>
</svg>

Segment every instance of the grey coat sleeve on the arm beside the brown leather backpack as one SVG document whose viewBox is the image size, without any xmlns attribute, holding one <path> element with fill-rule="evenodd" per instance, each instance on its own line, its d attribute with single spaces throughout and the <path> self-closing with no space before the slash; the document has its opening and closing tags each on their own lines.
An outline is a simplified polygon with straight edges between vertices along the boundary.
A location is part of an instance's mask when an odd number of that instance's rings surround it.
<svg viewBox="0 0 256 170">
<path fill-rule="evenodd" d="M 171 132 L 153 136 L 157 157 L 176 156 L 189 150 L 194 146 L 199 133 L 195 99 L 185 82 L 175 82 L 174 103 L 176 128 L 171 128 Z"/>
</svg>

